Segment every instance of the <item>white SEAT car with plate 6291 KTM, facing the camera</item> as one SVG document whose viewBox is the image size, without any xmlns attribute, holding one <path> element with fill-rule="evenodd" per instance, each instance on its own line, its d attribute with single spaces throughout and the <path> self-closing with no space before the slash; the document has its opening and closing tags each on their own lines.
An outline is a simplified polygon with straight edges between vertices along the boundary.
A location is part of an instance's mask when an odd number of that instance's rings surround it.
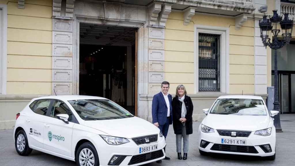
<svg viewBox="0 0 295 166">
<path fill-rule="evenodd" d="M 276 158 L 273 116 L 259 96 L 220 96 L 199 126 L 199 152 Z"/>
</svg>

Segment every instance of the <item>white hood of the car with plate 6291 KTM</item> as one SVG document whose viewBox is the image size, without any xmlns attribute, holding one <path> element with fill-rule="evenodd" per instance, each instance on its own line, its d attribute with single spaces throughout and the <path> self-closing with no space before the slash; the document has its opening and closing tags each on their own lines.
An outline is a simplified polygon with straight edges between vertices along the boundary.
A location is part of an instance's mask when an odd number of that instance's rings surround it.
<svg viewBox="0 0 295 166">
<path fill-rule="evenodd" d="M 257 131 L 268 127 L 270 118 L 249 115 L 216 115 L 208 114 L 202 124 L 214 129 Z"/>
</svg>

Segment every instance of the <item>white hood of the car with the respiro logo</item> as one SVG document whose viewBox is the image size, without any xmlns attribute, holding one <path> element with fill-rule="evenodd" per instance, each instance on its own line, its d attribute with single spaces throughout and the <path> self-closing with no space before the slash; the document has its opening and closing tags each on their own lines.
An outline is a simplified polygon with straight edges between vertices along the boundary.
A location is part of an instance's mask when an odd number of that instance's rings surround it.
<svg viewBox="0 0 295 166">
<path fill-rule="evenodd" d="M 85 121 L 85 126 L 103 131 L 110 136 L 134 138 L 152 134 L 159 134 L 160 130 L 152 123 L 138 117 Z"/>
</svg>

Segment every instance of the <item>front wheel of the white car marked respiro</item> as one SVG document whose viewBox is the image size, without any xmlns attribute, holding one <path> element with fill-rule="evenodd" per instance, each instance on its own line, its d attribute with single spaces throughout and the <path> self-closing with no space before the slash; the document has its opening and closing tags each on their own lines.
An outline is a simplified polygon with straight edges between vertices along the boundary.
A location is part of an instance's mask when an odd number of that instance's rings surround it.
<svg viewBox="0 0 295 166">
<path fill-rule="evenodd" d="M 76 152 L 78 166 L 99 166 L 96 149 L 90 142 L 83 143 Z"/>
</svg>

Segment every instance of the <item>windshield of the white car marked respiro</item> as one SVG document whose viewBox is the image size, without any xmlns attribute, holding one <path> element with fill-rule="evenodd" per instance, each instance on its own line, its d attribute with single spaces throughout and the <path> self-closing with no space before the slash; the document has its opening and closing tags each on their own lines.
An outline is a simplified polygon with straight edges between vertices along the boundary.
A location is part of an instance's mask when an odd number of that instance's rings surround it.
<svg viewBox="0 0 295 166">
<path fill-rule="evenodd" d="M 127 110 L 110 100 L 70 100 L 68 102 L 86 121 L 133 117 Z"/>
</svg>

